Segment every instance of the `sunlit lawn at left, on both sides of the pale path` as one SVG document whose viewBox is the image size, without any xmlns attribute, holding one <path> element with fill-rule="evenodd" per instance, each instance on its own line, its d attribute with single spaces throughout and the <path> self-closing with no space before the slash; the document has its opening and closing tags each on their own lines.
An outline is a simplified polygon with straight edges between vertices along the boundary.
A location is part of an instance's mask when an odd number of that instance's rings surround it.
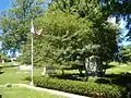
<svg viewBox="0 0 131 98">
<path fill-rule="evenodd" d="M 45 91 L 36 91 L 23 87 L 1 87 L 8 83 L 17 84 L 24 83 L 29 84 L 28 81 L 25 81 L 25 77 L 31 76 L 31 72 L 20 71 L 17 66 L 15 68 L 4 68 L 2 70 L 4 73 L 0 74 L 0 95 L 2 98 L 66 98 L 57 95 L 52 95 Z M 34 69 L 34 76 L 40 75 L 43 69 Z"/>
</svg>

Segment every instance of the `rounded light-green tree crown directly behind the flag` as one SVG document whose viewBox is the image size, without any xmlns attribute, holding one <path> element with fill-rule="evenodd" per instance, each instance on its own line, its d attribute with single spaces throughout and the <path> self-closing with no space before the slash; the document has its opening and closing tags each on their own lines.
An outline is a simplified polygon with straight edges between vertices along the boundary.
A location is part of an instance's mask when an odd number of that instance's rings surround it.
<svg viewBox="0 0 131 98">
<path fill-rule="evenodd" d="M 57 12 L 49 13 L 35 23 L 36 27 L 44 27 L 40 36 L 34 36 L 34 62 L 37 64 L 44 61 L 61 65 L 75 63 L 78 54 L 84 54 L 86 49 L 82 49 L 91 41 L 92 23 L 84 19 L 78 20 L 78 16 Z"/>
</svg>

